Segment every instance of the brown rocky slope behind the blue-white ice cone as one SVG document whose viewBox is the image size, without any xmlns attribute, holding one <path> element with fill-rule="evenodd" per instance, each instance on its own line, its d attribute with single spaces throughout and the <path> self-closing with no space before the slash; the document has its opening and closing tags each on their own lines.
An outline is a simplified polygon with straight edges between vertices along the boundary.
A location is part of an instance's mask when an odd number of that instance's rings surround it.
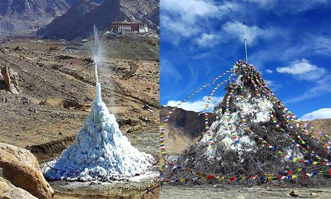
<svg viewBox="0 0 331 199">
<path fill-rule="evenodd" d="M 117 45 L 122 54 L 106 50 L 99 65 L 102 98 L 132 145 L 157 155 L 159 62 L 151 60 L 158 60 L 159 51 L 143 44 L 147 60 L 132 59 L 134 52 L 125 44 Z M 94 99 L 94 65 L 84 46 L 68 50 L 55 44 L 62 50 L 49 51 L 54 42 L 41 44 L 40 50 L 35 42 L 15 45 L 19 48 L 0 46 L 0 67 L 10 68 L 19 92 L 5 91 L 0 75 L 0 142 L 30 149 L 43 162 L 59 156 L 81 128 Z"/>
</svg>

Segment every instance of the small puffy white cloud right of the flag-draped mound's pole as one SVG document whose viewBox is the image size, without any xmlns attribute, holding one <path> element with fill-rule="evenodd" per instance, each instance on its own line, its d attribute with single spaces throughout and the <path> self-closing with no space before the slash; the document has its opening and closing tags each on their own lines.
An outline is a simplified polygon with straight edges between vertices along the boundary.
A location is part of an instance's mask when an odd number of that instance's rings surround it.
<svg viewBox="0 0 331 199">
<path fill-rule="evenodd" d="M 276 68 L 279 73 L 289 73 L 300 80 L 317 80 L 325 74 L 325 69 L 309 63 L 307 59 L 290 62 L 287 67 Z"/>
</svg>

